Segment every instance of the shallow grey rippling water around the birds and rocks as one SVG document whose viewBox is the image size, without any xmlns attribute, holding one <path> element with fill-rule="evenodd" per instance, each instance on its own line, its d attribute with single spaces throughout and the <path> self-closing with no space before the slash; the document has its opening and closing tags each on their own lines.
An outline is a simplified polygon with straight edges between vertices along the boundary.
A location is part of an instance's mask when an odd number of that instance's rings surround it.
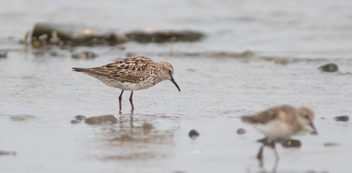
<svg viewBox="0 0 352 173">
<path fill-rule="evenodd" d="M 350 172 L 351 122 L 333 117 L 352 112 L 351 2 L 36 2 L 6 1 L 0 7 L 0 50 L 8 51 L 7 58 L 0 58 L 0 150 L 16 151 L 0 155 L 1 172 L 271 172 L 272 150 L 264 149 L 260 168 L 260 143 L 255 141 L 263 135 L 239 117 L 279 104 L 312 108 L 319 135 L 294 136 L 301 140 L 300 148 L 277 145 L 277 172 Z M 120 31 L 192 29 L 207 37 L 195 43 L 128 42 L 125 49 L 32 49 L 17 43 L 42 21 Z M 254 55 L 202 56 L 246 50 Z M 99 57 L 71 58 L 81 51 Z M 71 71 L 131 52 L 171 63 L 181 92 L 170 81 L 135 91 L 131 112 L 125 91 L 119 113 L 119 89 Z M 290 62 L 275 63 L 280 58 Z M 317 69 L 331 62 L 339 72 Z M 118 123 L 71 124 L 76 115 L 114 115 Z M 144 122 L 154 128 L 144 130 Z M 238 128 L 246 133 L 237 134 Z M 191 139 L 191 129 L 200 136 Z M 326 142 L 340 145 L 324 146 Z"/>
</svg>

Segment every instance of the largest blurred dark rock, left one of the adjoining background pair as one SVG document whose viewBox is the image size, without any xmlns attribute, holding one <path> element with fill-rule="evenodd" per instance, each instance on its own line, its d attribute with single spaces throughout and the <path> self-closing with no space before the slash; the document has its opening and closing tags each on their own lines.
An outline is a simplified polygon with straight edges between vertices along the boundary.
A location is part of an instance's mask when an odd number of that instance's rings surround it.
<svg viewBox="0 0 352 173">
<path fill-rule="evenodd" d="M 45 44 L 59 46 L 115 45 L 126 41 L 128 41 L 128 38 L 124 34 L 104 33 L 83 25 L 54 23 L 37 23 L 34 25 L 31 38 L 33 47 L 40 47 Z"/>
</svg>

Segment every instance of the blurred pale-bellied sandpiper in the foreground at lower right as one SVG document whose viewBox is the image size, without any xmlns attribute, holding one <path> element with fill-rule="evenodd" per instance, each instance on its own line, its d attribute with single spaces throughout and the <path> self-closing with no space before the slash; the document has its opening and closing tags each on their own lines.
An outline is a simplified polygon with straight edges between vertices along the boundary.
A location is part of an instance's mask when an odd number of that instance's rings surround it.
<svg viewBox="0 0 352 173">
<path fill-rule="evenodd" d="M 313 125 L 314 113 L 309 108 L 294 108 L 289 105 L 282 105 L 265 110 L 254 116 L 241 116 L 243 122 L 253 124 L 260 132 L 266 135 L 266 141 L 270 141 L 274 149 L 276 158 L 278 154 L 275 149 L 276 139 L 285 139 L 304 129 L 304 126 L 310 125 L 314 131 Z M 257 158 L 262 160 L 264 148 L 260 147 Z"/>
</svg>

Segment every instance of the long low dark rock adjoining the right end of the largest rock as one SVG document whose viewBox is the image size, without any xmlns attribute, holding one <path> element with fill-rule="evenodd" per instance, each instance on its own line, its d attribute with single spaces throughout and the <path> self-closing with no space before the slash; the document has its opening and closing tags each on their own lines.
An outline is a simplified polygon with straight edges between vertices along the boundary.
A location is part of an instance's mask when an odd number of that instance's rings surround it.
<svg viewBox="0 0 352 173">
<path fill-rule="evenodd" d="M 176 42 L 176 41 L 199 41 L 204 37 L 203 33 L 194 31 L 157 31 L 157 32 L 144 32 L 134 31 L 126 33 L 126 36 L 132 40 L 140 43 L 163 43 L 163 42 Z"/>
</svg>

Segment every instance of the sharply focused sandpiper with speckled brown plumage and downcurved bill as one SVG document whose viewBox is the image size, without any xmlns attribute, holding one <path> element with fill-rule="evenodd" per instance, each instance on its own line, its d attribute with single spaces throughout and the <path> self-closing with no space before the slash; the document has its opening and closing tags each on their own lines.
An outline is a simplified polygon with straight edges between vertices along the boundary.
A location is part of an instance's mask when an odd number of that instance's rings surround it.
<svg viewBox="0 0 352 173">
<path fill-rule="evenodd" d="M 121 89 L 119 105 L 121 110 L 122 93 L 131 91 L 130 103 L 132 110 L 132 95 L 135 90 L 147 89 L 161 81 L 170 80 L 178 89 L 174 78 L 174 68 L 170 63 L 159 61 L 155 63 L 148 57 L 131 57 L 94 68 L 72 68 L 73 71 L 93 76 L 110 87 Z"/>
</svg>

